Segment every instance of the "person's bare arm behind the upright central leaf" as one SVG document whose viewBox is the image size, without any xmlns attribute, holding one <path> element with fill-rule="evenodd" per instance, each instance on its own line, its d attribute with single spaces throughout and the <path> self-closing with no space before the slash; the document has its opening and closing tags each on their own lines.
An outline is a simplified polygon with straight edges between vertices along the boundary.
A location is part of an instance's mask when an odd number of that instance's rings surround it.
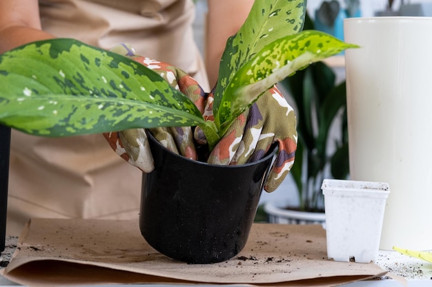
<svg viewBox="0 0 432 287">
<path fill-rule="evenodd" d="M 210 87 L 217 81 L 219 61 L 228 37 L 243 25 L 253 0 L 208 0 L 206 30 L 206 70 Z"/>
</svg>

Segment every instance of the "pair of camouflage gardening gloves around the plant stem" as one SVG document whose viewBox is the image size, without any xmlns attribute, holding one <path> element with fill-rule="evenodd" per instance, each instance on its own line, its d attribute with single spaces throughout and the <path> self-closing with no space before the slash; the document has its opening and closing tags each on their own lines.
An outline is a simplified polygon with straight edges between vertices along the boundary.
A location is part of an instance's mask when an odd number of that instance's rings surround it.
<svg viewBox="0 0 432 287">
<path fill-rule="evenodd" d="M 131 56 L 135 61 L 155 70 L 176 89 L 193 100 L 206 120 L 213 120 L 213 94 L 205 94 L 199 84 L 177 67 L 137 56 L 127 45 L 118 45 L 113 52 Z M 206 145 L 206 138 L 199 128 L 195 134 L 190 127 L 150 129 L 155 138 L 171 151 L 196 160 L 196 142 Z M 144 129 L 128 129 L 104 134 L 112 149 L 130 164 L 144 172 L 153 170 L 153 157 L 148 147 Z M 264 189 L 277 189 L 294 162 L 297 143 L 295 114 L 276 87 L 269 89 L 257 102 L 239 116 L 225 136 L 210 153 L 208 163 L 244 164 L 263 158 L 273 143 L 279 151 L 268 175 Z"/>
</svg>

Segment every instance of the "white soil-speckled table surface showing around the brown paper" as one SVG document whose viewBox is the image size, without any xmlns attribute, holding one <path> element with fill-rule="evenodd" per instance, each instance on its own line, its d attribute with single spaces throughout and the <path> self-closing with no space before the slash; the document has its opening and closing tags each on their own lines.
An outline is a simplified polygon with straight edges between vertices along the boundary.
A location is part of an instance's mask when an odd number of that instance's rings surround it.
<svg viewBox="0 0 432 287">
<path fill-rule="evenodd" d="M 7 266 L 12 258 L 12 255 L 17 248 L 17 237 L 6 238 L 6 248 L 0 255 L 0 269 Z M 404 277 L 408 280 L 408 287 L 431 287 L 432 286 L 432 264 L 408 257 L 395 251 L 380 251 L 377 262 L 382 269 L 390 273 Z M 0 286 L 15 286 L 13 282 L 0 276 Z M 157 285 L 164 287 L 166 285 Z M 205 285 L 201 285 L 205 286 Z M 399 282 L 390 279 L 389 277 L 377 278 L 369 281 L 358 281 L 351 284 L 346 284 L 344 287 L 400 287 Z M 131 285 L 128 285 L 131 287 Z M 146 285 L 150 287 L 150 285 Z"/>
</svg>

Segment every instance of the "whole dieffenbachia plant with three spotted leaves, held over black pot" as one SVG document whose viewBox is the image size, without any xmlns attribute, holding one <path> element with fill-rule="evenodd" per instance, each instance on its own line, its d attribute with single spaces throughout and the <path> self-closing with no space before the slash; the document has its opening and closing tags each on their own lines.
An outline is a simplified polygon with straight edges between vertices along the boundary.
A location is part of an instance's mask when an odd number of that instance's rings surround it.
<svg viewBox="0 0 432 287">
<path fill-rule="evenodd" d="M 255 0 L 222 56 L 214 122 L 144 65 L 72 39 L 51 39 L 0 55 L 0 123 L 52 137 L 199 126 L 212 149 L 272 85 L 355 47 L 322 32 L 300 32 L 305 13 L 304 0 Z"/>
</svg>

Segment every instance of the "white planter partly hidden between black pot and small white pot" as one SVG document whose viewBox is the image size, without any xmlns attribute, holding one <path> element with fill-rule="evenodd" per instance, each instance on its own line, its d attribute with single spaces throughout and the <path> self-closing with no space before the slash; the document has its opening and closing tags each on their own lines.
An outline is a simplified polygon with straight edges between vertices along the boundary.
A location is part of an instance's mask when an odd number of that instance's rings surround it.
<svg viewBox="0 0 432 287">
<path fill-rule="evenodd" d="M 321 224 L 326 227 L 324 213 L 294 211 L 286 209 L 288 202 L 266 202 L 264 211 L 268 215 L 268 222 L 279 224 Z"/>
</svg>

